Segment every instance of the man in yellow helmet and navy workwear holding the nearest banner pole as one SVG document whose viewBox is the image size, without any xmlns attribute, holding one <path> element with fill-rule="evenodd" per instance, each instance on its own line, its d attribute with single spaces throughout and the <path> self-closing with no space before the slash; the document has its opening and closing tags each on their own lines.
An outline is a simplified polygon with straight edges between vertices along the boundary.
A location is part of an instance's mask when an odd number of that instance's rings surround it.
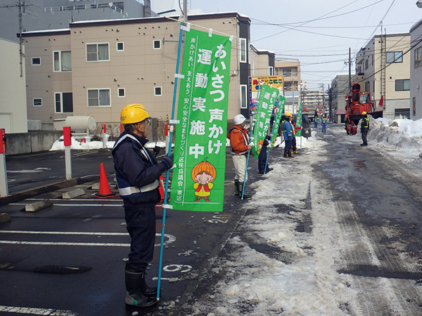
<svg viewBox="0 0 422 316">
<path fill-rule="evenodd" d="M 112 150 L 115 176 L 123 199 L 124 218 L 131 237 L 129 260 L 124 268 L 127 294 L 124 303 L 149 307 L 157 303 L 157 287 L 146 284 L 145 271 L 153 260 L 155 244 L 155 204 L 160 202 L 159 178 L 173 166 L 173 155 L 158 164 L 146 149 L 151 117 L 145 107 L 131 104 L 123 108 L 120 124 L 124 131 Z"/>
</svg>

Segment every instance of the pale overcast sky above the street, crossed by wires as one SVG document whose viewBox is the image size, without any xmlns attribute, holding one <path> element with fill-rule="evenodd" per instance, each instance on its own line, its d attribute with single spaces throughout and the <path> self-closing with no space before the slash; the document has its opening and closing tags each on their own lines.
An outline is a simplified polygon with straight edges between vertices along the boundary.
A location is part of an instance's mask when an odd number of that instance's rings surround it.
<svg viewBox="0 0 422 316">
<path fill-rule="evenodd" d="M 349 47 L 353 57 L 381 34 L 381 20 L 387 33 L 405 33 L 422 19 L 416 0 L 188 0 L 188 8 L 248 15 L 252 45 L 299 59 L 308 89 L 324 83 L 325 90 L 336 74 L 348 73 Z"/>
</svg>

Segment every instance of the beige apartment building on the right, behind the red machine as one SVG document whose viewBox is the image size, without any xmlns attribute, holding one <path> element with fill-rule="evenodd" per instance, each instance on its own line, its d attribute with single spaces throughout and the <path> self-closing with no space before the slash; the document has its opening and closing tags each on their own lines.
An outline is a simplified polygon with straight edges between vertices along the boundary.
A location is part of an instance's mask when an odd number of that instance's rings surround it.
<svg viewBox="0 0 422 316">
<path fill-rule="evenodd" d="M 356 55 L 356 74 L 362 91 L 370 92 L 376 105 L 384 97 L 383 117 L 410 117 L 410 34 L 374 36 Z"/>
</svg>

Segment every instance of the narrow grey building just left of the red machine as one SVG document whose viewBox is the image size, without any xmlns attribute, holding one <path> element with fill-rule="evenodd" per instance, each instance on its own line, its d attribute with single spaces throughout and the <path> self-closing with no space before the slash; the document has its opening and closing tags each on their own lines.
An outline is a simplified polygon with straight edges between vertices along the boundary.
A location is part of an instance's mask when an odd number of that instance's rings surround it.
<svg viewBox="0 0 422 316">
<path fill-rule="evenodd" d="M 345 96 L 349 93 L 349 74 L 338 74 L 331 81 L 330 119 L 334 123 L 345 122 Z"/>
</svg>

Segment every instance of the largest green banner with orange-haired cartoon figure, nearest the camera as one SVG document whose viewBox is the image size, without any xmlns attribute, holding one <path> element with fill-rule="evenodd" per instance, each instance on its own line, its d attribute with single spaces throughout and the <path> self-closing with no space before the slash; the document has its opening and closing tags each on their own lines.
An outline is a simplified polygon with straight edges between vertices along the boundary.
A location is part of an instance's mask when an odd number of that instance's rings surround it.
<svg viewBox="0 0 422 316">
<path fill-rule="evenodd" d="M 231 39 L 186 32 L 170 204 L 223 211 Z"/>
</svg>

